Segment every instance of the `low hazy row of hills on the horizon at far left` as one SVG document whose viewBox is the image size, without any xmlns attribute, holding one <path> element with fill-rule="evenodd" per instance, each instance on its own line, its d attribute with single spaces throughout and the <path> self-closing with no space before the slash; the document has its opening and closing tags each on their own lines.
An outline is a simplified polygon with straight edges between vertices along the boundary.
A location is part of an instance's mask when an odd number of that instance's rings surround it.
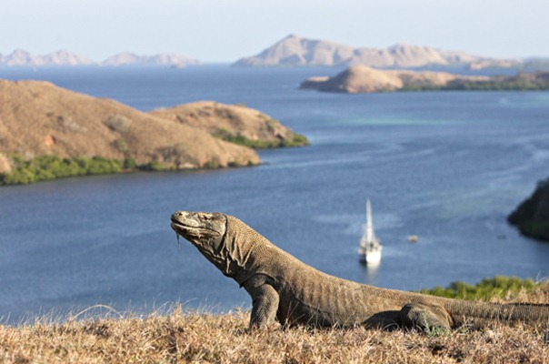
<svg viewBox="0 0 549 364">
<path fill-rule="evenodd" d="M 182 55 L 160 54 L 137 56 L 124 52 L 97 62 L 85 56 L 60 50 L 44 56 L 35 56 L 22 49 L 15 49 L 9 55 L 0 55 L 0 66 L 173 66 L 185 67 L 201 65 L 202 62 Z"/>
</svg>

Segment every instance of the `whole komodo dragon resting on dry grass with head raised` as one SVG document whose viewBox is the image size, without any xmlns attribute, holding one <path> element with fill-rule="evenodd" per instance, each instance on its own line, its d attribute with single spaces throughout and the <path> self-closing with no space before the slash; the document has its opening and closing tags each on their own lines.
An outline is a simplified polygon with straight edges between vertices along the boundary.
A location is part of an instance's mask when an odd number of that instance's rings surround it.
<svg viewBox="0 0 549 364">
<path fill-rule="evenodd" d="M 488 322 L 549 324 L 549 305 L 496 304 L 376 288 L 307 266 L 221 213 L 175 212 L 171 227 L 234 278 L 253 300 L 250 328 L 275 323 L 319 327 L 443 329 Z"/>
</svg>

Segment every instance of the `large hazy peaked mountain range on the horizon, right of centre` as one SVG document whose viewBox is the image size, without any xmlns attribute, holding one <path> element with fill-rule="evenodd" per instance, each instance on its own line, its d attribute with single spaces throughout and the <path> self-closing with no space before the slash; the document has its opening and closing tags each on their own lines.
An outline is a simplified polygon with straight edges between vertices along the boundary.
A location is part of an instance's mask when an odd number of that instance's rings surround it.
<svg viewBox="0 0 549 364">
<path fill-rule="evenodd" d="M 288 35 L 256 56 L 241 58 L 234 66 L 373 66 L 419 67 L 485 65 L 500 61 L 460 51 L 445 51 L 427 46 L 394 45 L 384 49 L 341 45 L 299 35 Z"/>
</svg>

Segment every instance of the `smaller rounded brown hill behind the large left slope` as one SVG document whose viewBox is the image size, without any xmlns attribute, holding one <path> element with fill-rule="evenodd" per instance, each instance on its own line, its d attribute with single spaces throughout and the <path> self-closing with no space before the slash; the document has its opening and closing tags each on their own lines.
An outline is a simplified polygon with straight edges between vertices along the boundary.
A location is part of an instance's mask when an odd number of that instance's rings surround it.
<svg viewBox="0 0 549 364">
<path fill-rule="evenodd" d="M 201 101 L 156 109 L 150 114 L 248 147 L 294 147 L 307 143 L 304 136 L 296 135 L 278 120 L 245 106 Z"/>
</svg>

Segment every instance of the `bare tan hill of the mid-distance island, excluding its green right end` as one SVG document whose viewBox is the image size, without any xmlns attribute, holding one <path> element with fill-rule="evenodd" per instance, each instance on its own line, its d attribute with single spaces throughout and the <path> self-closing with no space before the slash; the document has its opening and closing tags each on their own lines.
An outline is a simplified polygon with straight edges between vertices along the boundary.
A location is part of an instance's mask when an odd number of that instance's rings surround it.
<svg viewBox="0 0 549 364">
<path fill-rule="evenodd" d="M 301 88 L 349 94 L 442 87 L 455 80 L 479 81 L 486 77 L 457 76 L 446 72 L 379 70 L 352 66 L 333 77 L 311 77 Z"/>
</svg>

